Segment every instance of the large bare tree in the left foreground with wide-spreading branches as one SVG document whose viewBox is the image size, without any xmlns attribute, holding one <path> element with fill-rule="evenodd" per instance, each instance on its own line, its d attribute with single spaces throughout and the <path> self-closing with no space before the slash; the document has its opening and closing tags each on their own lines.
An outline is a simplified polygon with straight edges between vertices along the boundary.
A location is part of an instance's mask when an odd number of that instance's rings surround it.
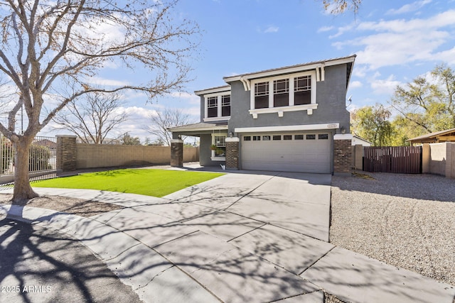
<svg viewBox="0 0 455 303">
<path fill-rule="evenodd" d="M 133 89 L 149 97 L 188 81 L 187 57 L 196 50 L 198 27 L 173 21 L 178 0 L 0 0 L 0 74 L 18 97 L 0 131 L 16 148 L 14 204 L 37 197 L 28 180 L 28 153 L 36 133 L 71 101 L 94 92 Z M 106 89 L 92 77 L 107 65 L 147 70 L 144 83 Z M 124 73 L 126 77 L 127 73 Z M 23 106 L 28 125 L 16 131 Z M 43 110 L 45 109 L 45 110 Z"/>
</svg>

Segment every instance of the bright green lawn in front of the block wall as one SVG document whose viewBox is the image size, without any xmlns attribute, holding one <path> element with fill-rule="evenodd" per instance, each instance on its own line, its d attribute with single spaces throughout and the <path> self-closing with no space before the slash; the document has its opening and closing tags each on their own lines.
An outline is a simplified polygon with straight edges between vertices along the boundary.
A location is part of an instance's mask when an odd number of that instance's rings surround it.
<svg viewBox="0 0 455 303">
<path fill-rule="evenodd" d="M 99 189 L 163 197 L 180 189 L 224 175 L 181 170 L 108 170 L 33 183 L 33 187 Z"/>
</svg>

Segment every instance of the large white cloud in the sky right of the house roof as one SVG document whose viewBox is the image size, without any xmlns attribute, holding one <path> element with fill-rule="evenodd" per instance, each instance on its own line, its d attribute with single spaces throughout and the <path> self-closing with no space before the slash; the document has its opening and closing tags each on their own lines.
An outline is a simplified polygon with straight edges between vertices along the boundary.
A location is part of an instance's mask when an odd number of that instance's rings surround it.
<svg viewBox="0 0 455 303">
<path fill-rule="evenodd" d="M 440 60 L 441 56 L 450 59 L 455 50 L 439 50 L 453 37 L 449 31 L 450 26 L 455 26 L 455 10 L 426 19 L 362 22 L 353 31 L 374 33 L 336 42 L 333 46 L 338 49 L 347 46 L 363 48 L 356 52 L 356 62 L 367 65 L 370 70 L 410 62 Z M 338 33 L 344 31 L 346 27 L 338 29 Z"/>
</svg>

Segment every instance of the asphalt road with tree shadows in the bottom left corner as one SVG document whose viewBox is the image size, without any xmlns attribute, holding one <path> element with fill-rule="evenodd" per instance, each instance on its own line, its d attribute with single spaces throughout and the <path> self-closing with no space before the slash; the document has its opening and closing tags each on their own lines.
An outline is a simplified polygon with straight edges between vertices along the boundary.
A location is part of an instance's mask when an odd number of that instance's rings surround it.
<svg viewBox="0 0 455 303">
<path fill-rule="evenodd" d="M 0 220 L 0 302 L 141 302 L 79 241 Z"/>
</svg>

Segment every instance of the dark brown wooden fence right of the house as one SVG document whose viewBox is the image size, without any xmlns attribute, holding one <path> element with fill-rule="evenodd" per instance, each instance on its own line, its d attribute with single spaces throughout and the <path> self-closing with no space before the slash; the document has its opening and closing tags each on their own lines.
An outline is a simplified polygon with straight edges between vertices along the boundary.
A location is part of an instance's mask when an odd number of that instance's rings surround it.
<svg viewBox="0 0 455 303">
<path fill-rule="evenodd" d="M 364 146 L 363 170 L 365 172 L 422 173 L 421 146 Z"/>
</svg>

